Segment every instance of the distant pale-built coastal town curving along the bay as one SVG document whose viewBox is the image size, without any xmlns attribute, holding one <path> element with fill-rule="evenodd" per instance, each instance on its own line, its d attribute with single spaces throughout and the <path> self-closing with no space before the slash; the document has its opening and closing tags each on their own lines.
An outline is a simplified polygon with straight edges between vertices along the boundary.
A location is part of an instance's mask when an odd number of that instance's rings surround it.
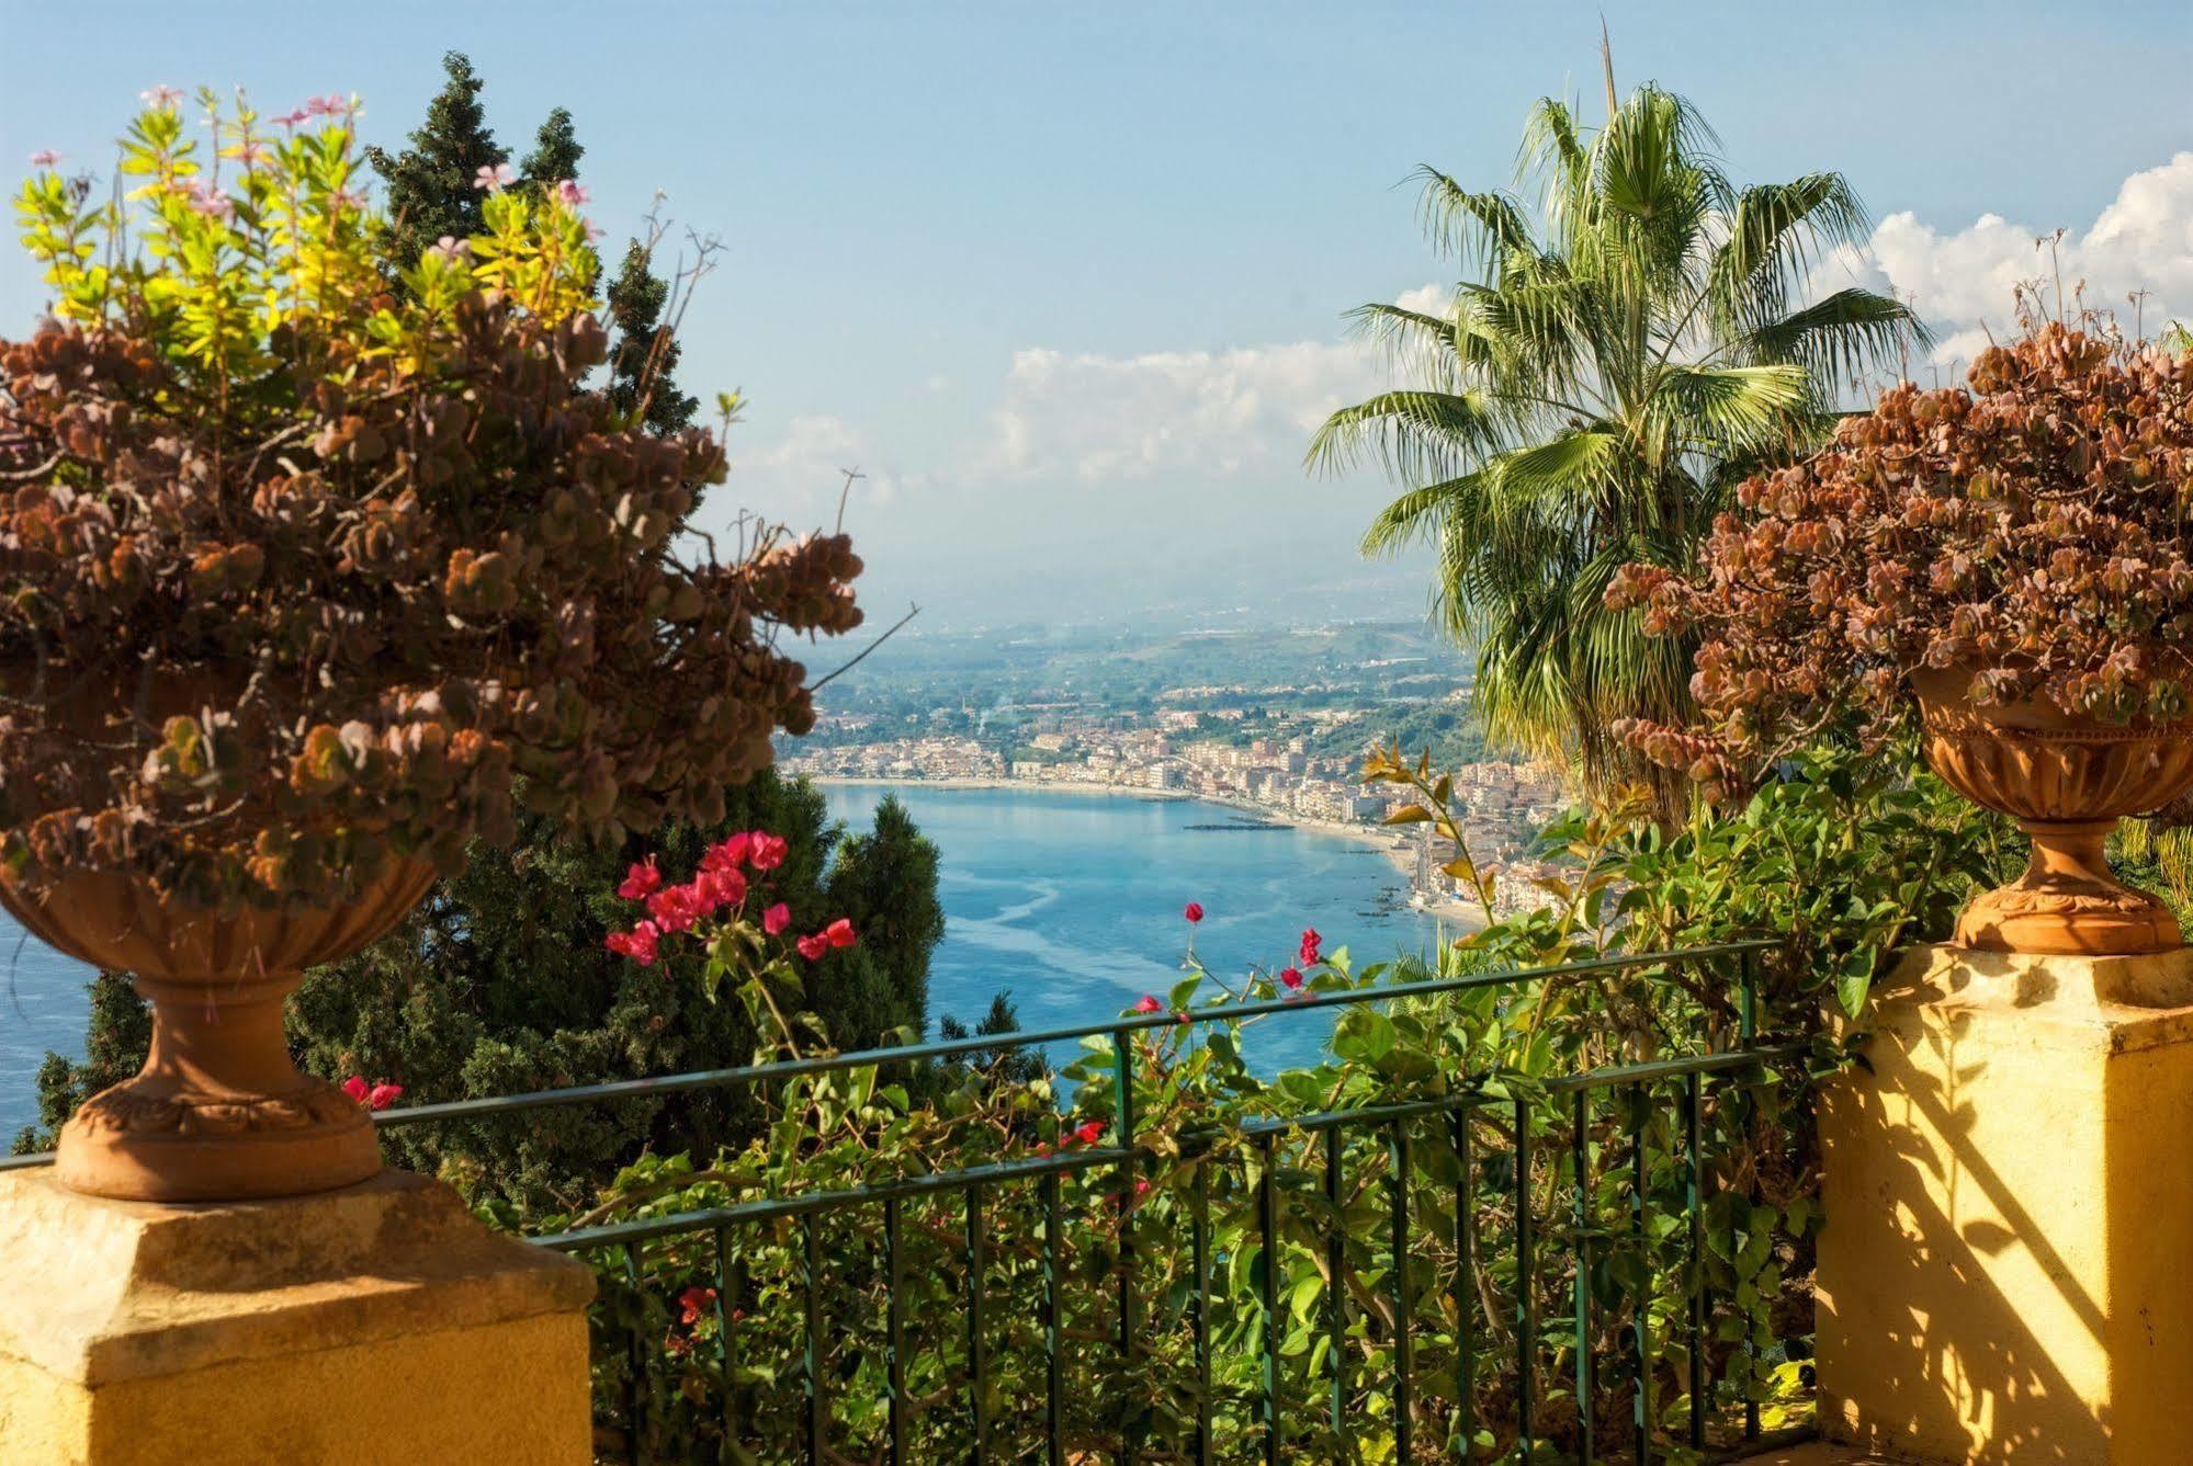
<svg viewBox="0 0 2193 1466">
<path fill-rule="evenodd" d="M 943 717 L 932 721 L 958 721 Z M 1254 721 L 1254 732 L 1246 725 Z M 969 732 L 877 736 L 877 719 L 825 714 L 818 736 L 787 749 L 783 767 L 816 780 L 943 782 L 976 787 L 1107 789 L 1147 798 L 1224 804 L 1274 824 L 1342 833 L 1379 848 L 1408 898 L 1456 920 L 1482 920 L 1476 887 L 1443 874 L 1452 850 L 1430 826 L 1386 826 L 1408 800 L 1360 780 L 1362 756 L 1382 741 L 1357 710 L 1305 710 L 1274 725 L 1248 708 L 1158 708 L 1151 712 L 1057 710 L 1020 725 L 1011 745 Z M 1349 734 L 1355 734 L 1353 738 Z M 1347 749 L 1320 752 L 1320 749 Z M 1550 769 L 1476 760 L 1452 769 L 1463 839 L 1474 861 L 1493 863 L 1493 916 L 1539 905 L 1533 877 L 1553 872 L 1535 855 L 1537 831 L 1561 809 Z"/>
</svg>

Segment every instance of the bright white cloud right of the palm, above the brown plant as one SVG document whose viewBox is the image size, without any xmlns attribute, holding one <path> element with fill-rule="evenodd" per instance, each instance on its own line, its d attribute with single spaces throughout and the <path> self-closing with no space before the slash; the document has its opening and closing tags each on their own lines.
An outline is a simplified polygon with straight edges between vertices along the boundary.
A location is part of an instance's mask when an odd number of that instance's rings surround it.
<svg viewBox="0 0 2193 1466">
<path fill-rule="evenodd" d="M 2086 230 L 2064 234 L 2057 261 L 2035 248 L 2053 232 L 2055 224 L 1993 213 L 1941 232 L 1906 210 L 1882 219 L 1864 252 L 1831 265 L 1910 300 L 1941 329 L 1939 359 L 1969 357 L 1987 340 L 1982 327 L 2000 337 L 2013 320 L 2011 291 L 2042 280 L 2053 294 L 2059 265 L 2066 291 L 2083 283 L 2086 302 L 2114 311 L 2127 331 L 2136 320 L 2154 331 L 2193 316 L 2193 151 L 2127 177 Z M 2127 296 L 2140 289 L 2147 300 L 2134 309 Z"/>
</svg>

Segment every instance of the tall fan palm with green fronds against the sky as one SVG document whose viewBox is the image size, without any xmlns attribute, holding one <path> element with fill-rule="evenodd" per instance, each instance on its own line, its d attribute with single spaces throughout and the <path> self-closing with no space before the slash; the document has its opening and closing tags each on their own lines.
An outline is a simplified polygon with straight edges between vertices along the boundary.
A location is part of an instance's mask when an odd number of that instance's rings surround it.
<svg viewBox="0 0 2193 1466">
<path fill-rule="evenodd" d="M 1689 646 L 1603 596 L 1629 561 L 1689 565 L 1728 489 L 1816 443 L 1840 381 L 1917 342 L 1897 300 L 1807 300 L 1811 267 L 1866 237 L 1840 173 L 1735 188 L 1697 112 L 1656 85 L 1588 136 L 1539 101 L 1513 193 L 1423 167 L 1432 248 L 1472 278 L 1443 316 L 1366 305 L 1355 324 L 1417 386 L 1336 412 L 1311 465 L 1364 456 L 1406 484 L 1364 550 L 1439 552 L 1434 607 L 1476 651 L 1487 734 L 1581 774 L 1647 776 L 1610 725 L 1684 721 Z M 1662 787 L 1675 806 L 1680 789 Z"/>
</svg>

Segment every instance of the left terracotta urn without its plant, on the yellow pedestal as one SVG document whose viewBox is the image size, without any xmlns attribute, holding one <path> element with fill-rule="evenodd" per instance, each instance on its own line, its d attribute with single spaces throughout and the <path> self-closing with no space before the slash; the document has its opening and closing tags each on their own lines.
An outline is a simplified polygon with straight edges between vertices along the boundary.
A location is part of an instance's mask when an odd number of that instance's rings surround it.
<svg viewBox="0 0 2193 1466">
<path fill-rule="evenodd" d="M 289 1061 L 283 999 L 307 966 L 388 931 L 432 879 L 404 861 L 342 907 L 235 916 L 169 907 L 114 874 L 66 877 L 35 898 L 0 881 L 0 905 L 37 938 L 132 973 L 151 1004 L 151 1056 L 64 1126 L 61 1183 L 132 1201 L 246 1201 L 379 1172 L 364 1107 Z"/>
</svg>

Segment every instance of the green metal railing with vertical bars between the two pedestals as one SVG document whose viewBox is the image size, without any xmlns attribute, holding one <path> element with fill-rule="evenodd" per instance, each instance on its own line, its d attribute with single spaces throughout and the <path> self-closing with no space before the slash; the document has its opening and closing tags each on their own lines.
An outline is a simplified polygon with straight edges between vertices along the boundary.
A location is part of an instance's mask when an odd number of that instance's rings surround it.
<svg viewBox="0 0 2193 1466">
<path fill-rule="evenodd" d="M 1704 1286 L 1706 1273 L 1706 1212 L 1711 1201 L 1711 1177 L 1713 1164 L 1704 1148 L 1704 1124 L 1708 1100 L 1715 1098 L 1717 1085 L 1730 1085 L 1728 1098 L 1737 1104 L 1737 1115 L 1748 1118 L 1752 1098 L 1750 1085 L 1757 1085 L 1776 1061 L 1794 1058 L 1805 1052 L 1805 1045 L 1770 1045 L 1759 1041 L 1757 1032 L 1757 1001 L 1759 1001 L 1759 955 L 1774 949 L 1772 940 L 1754 942 L 1728 942 L 1717 947 L 1697 947 L 1682 951 L 1654 951 L 1634 955 L 1612 955 L 1590 962 L 1575 962 L 1564 966 L 1542 966 L 1542 969 L 1518 969 L 1504 973 L 1482 973 L 1467 977 L 1445 977 L 1430 982 L 1377 986 L 1377 988 L 1353 988 L 1340 993 L 1305 993 L 1285 999 L 1270 1001 L 1235 1001 L 1206 1008 L 1191 1008 L 1186 1012 L 1154 1012 L 1154 1015 L 1125 1015 L 1110 1023 L 1075 1026 L 1075 1028 L 1046 1028 L 1031 1032 L 1011 1034 L 982 1034 L 969 1039 L 952 1039 L 939 1043 L 921 1043 L 908 1047 L 886 1047 L 886 1050 L 864 1050 L 849 1054 L 831 1054 L 820 1058 L 798 1058 L 787 1063 L 770 1065 L 746 1065 L 730 1069 L 708 1069 L 695 1074 L 675 1074 L 649 1080 L 623 1080 L 607 1085 L 583 1085 L 572 1089 L 544 1089 L 533 1093 L 498 1096 L 485 1100 L 463 1100 L 450 1104 L 419 1104 L 410 1109 L 393 1109 L 375 1115 L 382 1126 L 417 1126 L 436 1124 L 454 1120 L 482 1120 L 496 1115 L 522 1115 L 529 1111 L 557 1109 L 557 1107 L 583 1107 L 603 1104 L 625 1098 L 656 1098 L 678 1091 L 700 1091 L 700 1089 L 721 1089 L 721 1087 L 752 1087 L 770 1085 L 776 1080 L 787 1080 L 796 1076 L 846 1072 L 868 1065 L 910 1065 L 939 1058 L 956 1058 L 967 1054 L 991 1054 L 1000 1050 L 1026 1050 L 1053 1043 L 1075 1043 L 1081 1039 L 1110 1039 L 1112 1058 L 1116 1065 L 1114 1093 L 1116 1093 L 1116 1115 L 1112 1144 L 1092 1144 L 1077 1148 L 1072 1153 L 1039 1155 L 1026 1159 L 993 1161 L 985 1166 L 974 1166 L 965 1170 L 934 1172 L 934 1175 L 910 1175 L 888 1181 L 877 1181 L 868 1186 L 846 1188 L 846 1190 L 818 1190 L 787 1196 L 768 1196 L 754 1201 L 741 1201 L 737 1205 L 721 1205 L 708 1210 L 691 1210 L 673 1216 L 649 1216 L 643 1221 L 623 1221 L 596 1227 L 581 1227 L 572 1232 L 559 1232 L 550 1236 L 533 1236 L 531 1242 L 539 1247 L 550 1247 L 566 1253 L 586 1256 L 596 1271 L 605 1275 L 607 1282 L 621 1284 L 638 1293 L 645 1286 L 643 1280 L 643 1256 L 647 1245 L 662 1240 L 686 1240 L 704 1242 L 713 1253 L 713 1286 L 715 1286 L 715 1324 L 724 1350 L 724 1389 L 721 1400 L 715 1409 L 721 1413 L 721 1438 L 726 1442 L 737 1442 L 741 1438 L 750 1440 L 750 1431 L 757 1422 L 741 1420 L 739 1391 L 730 1387 L 730 1361 L 741 1341 L 739 1313 L 741 1302 L 748 1297 L 750 1280 L 746 1275 L 746 1258 L 741 1249 L 741 1234 L 752 1227 L 768 1223 L 792 1223 L 796 1227 L 796 1258 L 798 1258 L 798 1330 L 805 1339 L 805 1348 L 798 1354 L 800 1372 L 800 1413 L 798 1413 L 798 1442 L 770 1440 L 772 1451 L 785 1451 L 787 1459 L 798 1457 L 811 1466 L 820 1466 L 831 1459 L 846 1459 L 833 1455 L 831 1442 L 831 1376 L 825 1365 L 829 1356 L 829 1339 L 833 1328 L 844 1326 L 844 1319 L 827 1317 L 822 1293 L 825 1293 L 825 1253 L 822 1253 L 822 1223 L 829 1218 L 840 1218 L 846 1214 L 875 1216 L 882 1229 L 882 1293 L 884 1313 L 882 1319 L 882 1352 L 884 1352 L 884 1387 L 886 1387 L 886 1422 L 882 1427 L 879 1440 L 875 1442 L 875 1455 L 893 1466 L 910 1466 L 917 1457 L 908 1453 L 908 1431 L 910 1431 L 910 1400 L 908 1400 L 908 1319 L 904 1315 L 901 1299 L 906 1297 L 906 1227 L 908 1207 L 923 1199 L 958 1196 L 963 1203 L 965 1221 L 965 1284 L 963 1284 L 963 1308 L 965 1308 L 965 1429 L 969 1438 L 969 1459 L 991 1462 L 991 1459 L 1026 1459 L 1020 1455 L 1004 1457 L 996 1453 L 993 1444 L 993 1422 L 989 1418 L 989 1381 L 985 1378 L 991 1367 L 991 1335 L 996 1319 L 991 1317 L 989 1297 L 989 1273 L 987 1262 L 989 1249 L 996 1238 L 989 1227 L 991 1203 L 1004 1192 L 1004 1188 L 1031 1186 L 1035 1188 L 1037 1207 L 1042 1214 L 1042 1242 L 1039 1242 L 1039 1293 L 1042 1293 L 1042 1451 L 1035 1459 L 1048 1462 L 1048 1466 L 1064 1466 L 1068 1459 L 1092 1462 L 1096 1455 L 1086 1448 L 1075 1457 L 1068 1457 L 1068 1444 L 1064 1440 L 1064 1402 L 1068 1398 L 1068 1385 L 1061 1374 L 1061 1361 L 1066 1345 L 1061 1341 L 1061 1319 L 1066 1317 L 1066 1289 L 1072 1280 L 1061 1273 L 1059 1267 L 1059 1238 L 1061 1238 L 1061 1179 L 1094 1170 L 1114 1170 L 1123 1181 L 1121 1196 L 1132 1192 L 1134 1179 L 1151 1166 L 1154 1153 L 1140 1144 L 1140 1118 L 1134 1109 L 1134 1076 L 1129 1072 L 1136 1034 L 1158 1030 L 1158 1028 L 1180 1028 L 1180 1026 L 1213 1026 L 1213 1023 L 1235 1023 L 1252 1017 L 1268 1015 L 1303 1015 L 1327 1008 L 1351 1008 L 1364 1004 L 1393 1004 L 1395 999 L 1425 999 L 1465 990 L 1480 988 L 1502 988 L 1522 986 L 1531 982 L 1542 982 L 1550 977 L 1583 977 L 1583 975 L 1614 975 L 1614 973 L 1638 973 L 1649 969 L 1660 969 L 1662 973 L 1675 973 L 1689 969 L 1693 975 L 1713 975 L 1717 980 L 1728 980 L 1732 984 L 1735 1010 L 1737 1010 L 1737 1045 L 1722 1052 L 1686 1054 L 1678 1058 L 1662 1058 L 1654 1063 L 1599 1067 L 1579 1074 L 1568 1074 L 1559 1078 L 1544 1080 L 1533 1087 L 1531 1093 L 1520 1096 L 1491 1096 L 1478 1087 L 1458 1087 L 1454 1093 L 1425 1100 L 1406 1100 L 1360 1109 L 1336 1109 L 1309 1115 L 1285 1115 L 1285 1118 L 1261 1118 L 1250 1120 L 1235 1133 L 1235 1148 L 1239 1159 L 1252 1159 L 1257 1164 L 1257 1190 L 1254 1190 L 1254 1216 L 1257 1232 L 1268 1264 L 1261 1269 L 1259 1289 L 1261 1297 L 1257 1304 L 1263 1310 L 1261 1339 L 1254 1343 L 1261 1367 L 1261 1400 L 1254 1407 L 1254 1424 L 1250 1431 L 1261 1433 L 1261 1459 L 1303 1459 L 1296 1448 L 1287 1444 L 1289 1422 L 1285 1420 L 1287 1398 L 1283 1385 L 1283 1308 L 1281 1299 L 1274 1295 L 1279 1286 L 1279 1269 L 1270 1264 L 1274 1249 L 1281 1245 L 1281 1186 L 1279 1186 L 1279 1164 L 1276 1148 L 1283 1137 L 1296 1137 L 1316 1148 L 1311 1137 L 1322 1137 L 1322 1190 L 1325 1199 L 1331 1203 L 1336 1216 L 1342 1196 L 1342 1177 L 1347 1170 L 1347 1139 L 1349 1135 L 1382 1133 L 1386 1150 L 1386 1188 L 1388 1188 L 1388 1236 L 1384 1245 L 1390 1247 L 1390 1278 L 1384 1280 L 1388 1291 L 1390 1317 L 1399 1319 L 1401 1326 L 1395 1330 L 1397 1337 L 1390 1339 L 1393 1356 L 1393 1378 L 1384 1383 L 1384 1396 L 1390 1400 L 1390 1438 L 1395 1442 L 1395 1459 L 1412 1462 L 1421 1459 L 1419 1446 L 1430 1442 L 1417 1442 L 1417 1409 L 1414 1391 L 1417 1376 L 1417 1339 L 1410 1319 L 1414 1317 L 1414 1304 L 1423 1302 L 1414 1289 L 1419 1267 L 1412 1267 L 1412 1256 L 1417 1253 L 1419 1238 L 1412 1236 L 1412 1148 L 1423 1142 L 1423 1131 L 1443 1122 L 1443 1135 L 1436 1144 L 1450 1146 L 1456 1159 L 1456 1183 L 1452 1201 L 1452 1234 L 1436 1238 L 1441 1247 L 1454 1249 L 1454 1278 L 1452 1278 L 1452 1319 L 1454 1319 L 1454 1409 L 1458 1418 L 1450 1420 L 1445 1431 L 1445 1448 L 1454 1451 L 1456 1442 L 1469 1442 L 1476 1435 L 1478 1422 L 1474 1420 L 1476 1398 L 1478 1398 L 1478 1348 L 1476 1332 L 1485 1328 L 1482 1317 L 1485 1304 L 1478 1297 L 1478 1275 L 1487 1267 L 1487 1258 L 1480 1256 L 1478 1238 L 1478 1192 L 1476 1179 L 1487 1175 L 1489 1157 L 1480 1153 L 1476 1131 L 1500 1120 L 1502 1129 L 1509 1129 L 1513 1157 L 1513 1223 L 1511 1223 L 1511 1247 L 1513 1247 L 1513 1275 L 1518 1280 L 1513 1289 L 1513 1324 L 1515 1335 L 1515 1359 L 1511 1361 L 1513 1372 L 1513 1394 L 1511 1413 L 1507 1418 L 1504 1431 L 1513 1431 L 1511 1444 L 1504 1446 L 1504 1459 L 1531 1462 L 1539 1459 L 1539 1448 L 1544 1444 L 1542 1424 L 1544 1407 L 1548 1405 L 1548 1387 L 1553 1381 L 1546 1378 L 1544 1356 L 1553 1348 L 1546 1343 L 1548 1330 L 1546 1321 L 1539 1317 L 1539 1275 L 1546 1260 L 1537 1256 L 1539 1234 L 1544 1227 L 1553 1225 L 1550 1216 L 1542 1216 L 1533 1201 L 1533 1186 L 1548 1181 L 1559 1186 L 1561 1170 L 1568 1172 L 1568 1186 L 1575 1192 L 1575 1216 L 1568 1227 L 1568 1242 L 1575 1249 L 1575 1299 L 1572 1317 L 1568 1319 L 1570 1345 L 1572 1345 L 1572 1400 L 1577 1402 L 1577 1418 L 1568 1422 L 1568 1442 L 1575 1459 L 1581 1462 L 1607 1462 L 1627 1459 L 1640 1466 L 1654 1459 L 1664 1459 L 1671 1448 L 1684 1448 L 1691 1459 L 1719 1448 L 1741 1448 L 1746 1442 L 1761 1440 L 1761 1416 L 1759 1416 L 1759 1389 L 1757 1370 L 1743 1370 L 1741 1400 L 1730 1400 L 1726 1387 L 1717 1396 L 1717 1385 L 1708 1378 L 1708 1337 L 1715 1326 L 1717 1299 Z M 1732 969 L 1732 973 L 1730 973 Z M 1599 1096 L 1614 1093 L 1627 1104 L 1625 1118 L 1621 1122 L 1618 1135 L 1627 1137 L 1629 1166 L 1634 1175 L 1629 1177 L 1632 1196 L 1627 1207 L 1627 1225 L 1632 1234 L 1632 1245 L 1643 1245 L 1647 1227 L 1654 1225 L 1654 1216 L 1647 1205 L 1647 1157 L 1649 1146 L 1645 1139 L 1647 1115 L 1651 1113 L 1656 1091 L 1671 1089 L 1673 1096 L 1673 1133 L 1680 1142 L 1671 1144 L 1664 1153 L 1673 1161 L 1673 1150 L 1680 1146 L 1682 1164 L 1682 1192 L 1684 1192 L 1684 1216 L 1680 1218 L 1682 1249 L 1689 1256 L 1689 1275 L 1695 1280 L 1682 1302 L 1682 1352 L 1686 1356 L 1686 1394 L 1689 1394 L 1689 1416 L 1680 1429 L 1669 1431 L 1662 1427 L 1654 1409 L 1654 1376 L 1658 1372 L 1660 1359 L 1651 1356 L 1651 1328 L 1647 1321 L 1647 1304 L 1651 1299 L 1638 1297 L 1632 1302 L 1632 1317 L 1627 1326 L 1627 1345 L 1621 1374 L 1625 1378 L 1614 1381 L 1616 1385 L 1627 1385 L 1632 1405 L 1632 1429 L 1629 1440 L 1614 1444 L 1597 1440 L 1594 1409 L 1592 1402 L 1601 1398 L 1607 1387 L 1603 1378 L 1603 1359 L 1592 1350 L 1594 1330 L 1594 1297 L 1592 1297 L 1592 1247 L 1601 1238 L 1603 1227 L 1594 1207 L 1594 1181 L 1599 1179 L 1592 1170 L 1592 1129 L 1594 1129 L 1594 1100 Z M 1482 1124 L 1480 1124 L 1482 1122 Z M 1568 1131 L 1568 1144 L 1559 1146 L 1557 1135 Z M 1746 1126 L 1748 1129 L 1748 1126 Z M 1222 1153 L 1217 1142 L 1208 1142 L 1208 1148 L 1197 1150 L 1195 1137 L 1189 1137 L 1189 1153 L 1204 1161 L 1193 1168 L 1189 1179 L 1186 1214 L 1189 1214 L 1189 1238 L 1186 1238 L 1186 1267 L 1191 1275 L 1191 1302 L 1186 1306 L 1186 1319 L 1193 1335 L 1191 1354 L 1195 1372 L 1195 1418 L 1193 1418 L 1193 1440 L 1162 1442 L 1154 1448 L 1149 1442 L 1138 1440 L 1134 1429 L 1123 1429 L 1114 1451 L 1107 1451 L 1107 1459 L 1116 1462 L 1138 1462 L 1138 1459 L 1193 1459 L 1208 1464 L 1222 1457 L 1237 1459 L 1237 1453 L 1252 1442 L 1241 1440 L 1237 1433 L 1232 1440 L 1222 1442 L 1217 1438 L 1217 1422 L 1213 1416 L 1213 1363 L 1219 1341 L 1213 1330 L 1213 1267 L 1222 1264 L 1224 1258 L 1213 1251 L 1213 1212 L 1211 1212 L 1211 1164 L 1224 1164 L 1235 1159 Z M 1307 1155 L 1307 1153 L 1305 1153 Z M 44 1157 L 18 1157 L 13 1164 L 37 1164 Z M 1125 1210 L 1125 1201 L 1121 1203 Z M 1430 1238 L 1428 1238 L 1430 1240 Z M 1325 1258 L 1329 1278 L 1338 1280 L 1344 1267 L 1342 1247 L 1347 1238 L 1340 1234 L 1340 1223 L 1336 1221 L 1327 1229 Z M 1614 1245 L 1614 1240 L 1610 1240 Z M 1143 1297 L 1138 1295 L 1138 1258 L 1136 1258 L 1136 1234 L 1132 1225 L 1121 1227 L 1121 1267 L 1116 1269 L 1116 1319 L 1118 1330 L 1110 1348 L 1116 1348 L 1121 1356 L 1132 1359 L 1138 1350 L 1138 1319 L 1143 1313 Z M 1726 1299 L 1724 1299 L 1726 1302 Z M 1349 1295 L 1342 1286 L 1329 1286 L 1327 1299 L 1322 1302 L 1322 1332 L 1325 1345 L 1331 1359 L 1331 1378 L 1327 1387 L 1325 1411 L 1329 1413 L 1329 1427 L 1336 1438 L 1342 1438 L 1349 1429 L 1347 1413 L 1353 1409 L 1355 1385 L 1360 1381 L 1349 1378 L 1344 1335 L 1351 1328 Z M 1754 1348 L 1752 1332 L 1746 1332 L 1741 1345 L 1732 1345 L 1750 1352 Z M 623 1400 L 625 1431 L 623 1431 L 623 1453 L 632 1462 L 645 1462 L 649 1442 L 649 1370 L 651 1350 L 649 1337 L 643 1335 L 640 1324 L 634 1324 L 623 1339 L 623 1350 L 627 1352 L 625 1367 L 625 1389 Z M 596 1361 L 599 1363 L 599 1361 Z M 1502 1383 L 1509 1367 L 1502 1367 Z M 1722 1407 L 1730 1411 L 1741 1407 L 1741 1424 L 1726 1424 L 1722 1438 L 1715 1440 L 1713 1424 Z M 726 1457 L 730 1459 L 730 1457 Z M 776 1457 L 768 1457 L 776 1459 Z M 871 1459 L 871 1457 L 860 1457 Z M 1467 1459 L 1467 1446 L 1463 1448 L 1463 1459 Z"/>
</svg>

